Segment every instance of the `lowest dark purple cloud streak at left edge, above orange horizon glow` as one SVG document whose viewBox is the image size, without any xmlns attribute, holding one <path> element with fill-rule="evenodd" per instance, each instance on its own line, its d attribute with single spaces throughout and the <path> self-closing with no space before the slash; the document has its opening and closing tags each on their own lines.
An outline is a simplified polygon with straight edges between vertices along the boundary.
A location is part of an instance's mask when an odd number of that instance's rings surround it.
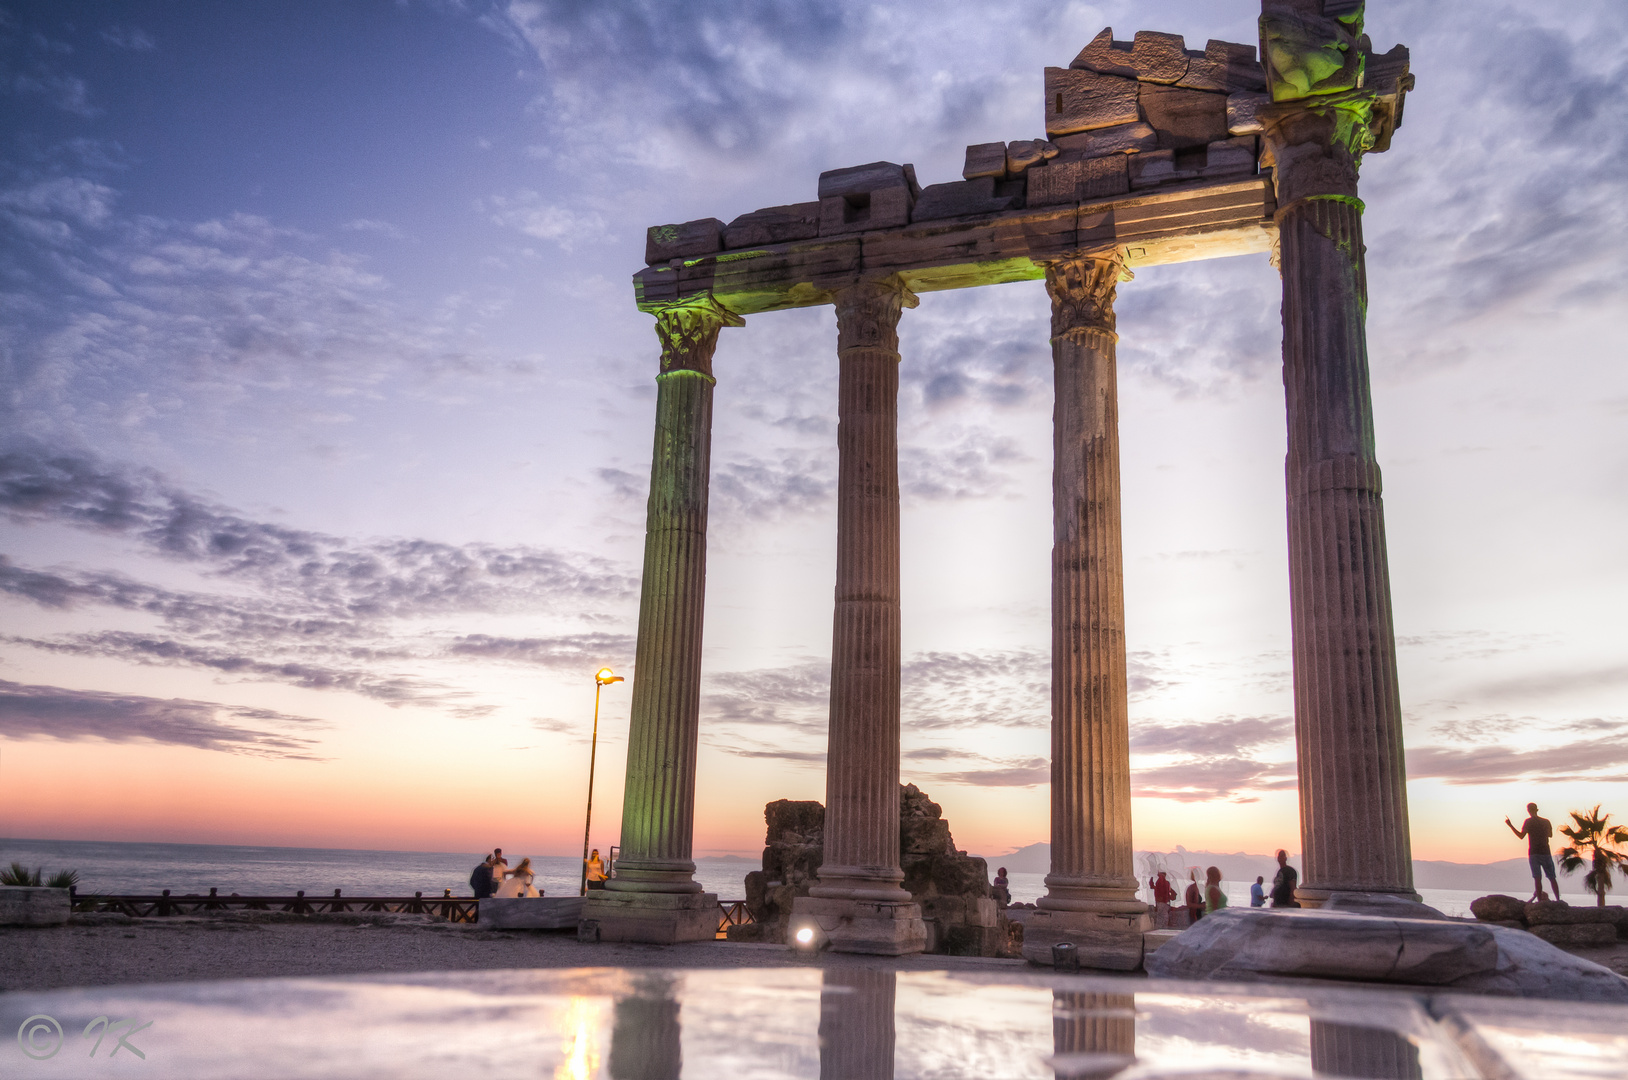
<svg viewBox="0 0 1628 1080">
<path fill-rule="evenodd" d="M 262 727 L 243 727 L 262 725 Z M 319 761 L 316 740 L 264 730 L 311 730 L 308 717 L 215 702 L 24 686 L 0 679 L 0 735 L 10 738 L 150 741 L 228 754 Z"/>
</svg>

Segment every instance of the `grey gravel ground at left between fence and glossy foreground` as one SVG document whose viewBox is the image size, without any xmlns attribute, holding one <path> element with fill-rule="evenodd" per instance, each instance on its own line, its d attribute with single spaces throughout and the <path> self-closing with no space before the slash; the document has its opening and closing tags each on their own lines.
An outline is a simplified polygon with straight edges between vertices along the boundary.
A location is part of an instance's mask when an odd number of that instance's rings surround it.
<svg viewBox="0 0 1628 1080">
<path fill-rule="evenodd" d="M 788 963 L 947 971 L 1024 968 L 959 956 L 798 958 L 778 945 L 589 945 L 571 932 L 482 930 L 427 915 L 129 919 L 75 915 L 65 927 L 0 929 L 0 990 L 501 968 L 767 968 Z"/>
</svg>

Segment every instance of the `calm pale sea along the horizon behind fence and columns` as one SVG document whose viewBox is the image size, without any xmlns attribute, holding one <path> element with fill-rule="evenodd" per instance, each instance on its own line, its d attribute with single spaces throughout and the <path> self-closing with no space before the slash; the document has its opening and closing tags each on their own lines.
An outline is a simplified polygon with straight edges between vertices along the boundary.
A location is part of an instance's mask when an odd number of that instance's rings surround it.
<svg viewBox="0 0 1628 1080">
<path fill-rule="evenodd" d="M 505 852 L 510 867 L 527 852 Z M 173 896 L 469 896 L 469 873 L 485 852 L 389 852 L 339 847 L 254 847 L 241 844 L 142 844 L 112 841 L 0 839 L 0 867 L 20 862 L 42 868 L 77 870 L 81 894 L 143 894 L 169 889 Z M 544 896 L 575 896 L 583 862 L 576 855 L 532 855 Z M 746 875 L 759 863 L 739 855 L 695 860 L 695 880 L 721 901 L 746 898 Z M 991 870 L 993 873 L 993 870 Z M 1034 902 L 1045 894 L 1044 873 L 1011 873 L 1013 901 Z M 1236 907 L 1249 906 L 1249 881 L 1223 881 Z M 1179 883 L 1180 888 L 1180 883 Z M 1148 893 L 1148 889 L 1143 889 Z M 1447 915 L 1468 915 L 1475 889 L 1420 889 L 1424 902 Z M 1151 893 L 1143 896 L 1153 902 Z"/>
</svg>

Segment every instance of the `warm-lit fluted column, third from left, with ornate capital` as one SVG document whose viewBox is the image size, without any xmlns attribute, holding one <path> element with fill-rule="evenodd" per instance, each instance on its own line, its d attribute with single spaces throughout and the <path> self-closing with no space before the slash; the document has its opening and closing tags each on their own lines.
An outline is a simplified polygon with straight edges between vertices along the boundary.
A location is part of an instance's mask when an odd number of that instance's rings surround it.
<svg viewBox="0 0 1628 1080">
<path fill-rule="evenodd" d="M 1092 968 L 1141 964 L 1148 906 L 1130 842 L 1130 699 L 1120 551 L 1118 252 L 1052 262 L 1052 873 L 1024 956 L 1074 942 Z"/>
</svg>

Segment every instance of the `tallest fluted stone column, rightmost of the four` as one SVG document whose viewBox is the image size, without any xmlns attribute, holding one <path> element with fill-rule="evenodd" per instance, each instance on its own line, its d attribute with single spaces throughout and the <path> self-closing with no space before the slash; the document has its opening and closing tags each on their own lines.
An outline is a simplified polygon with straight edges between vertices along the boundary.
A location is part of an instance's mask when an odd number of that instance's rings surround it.
<svg viewBox="0 0 1628 1080">
<path fill-rule="evenodd" d="M 1356 103 L 1361 106 L 1361 103 Z M 1296 896 L 1416 899 L 1385 515 L 1368 386 L 1356 197 L 1366 111 L 1268 109 L 1283 274 L 1294 743 L 1304 876 Z"/>
</svg>

